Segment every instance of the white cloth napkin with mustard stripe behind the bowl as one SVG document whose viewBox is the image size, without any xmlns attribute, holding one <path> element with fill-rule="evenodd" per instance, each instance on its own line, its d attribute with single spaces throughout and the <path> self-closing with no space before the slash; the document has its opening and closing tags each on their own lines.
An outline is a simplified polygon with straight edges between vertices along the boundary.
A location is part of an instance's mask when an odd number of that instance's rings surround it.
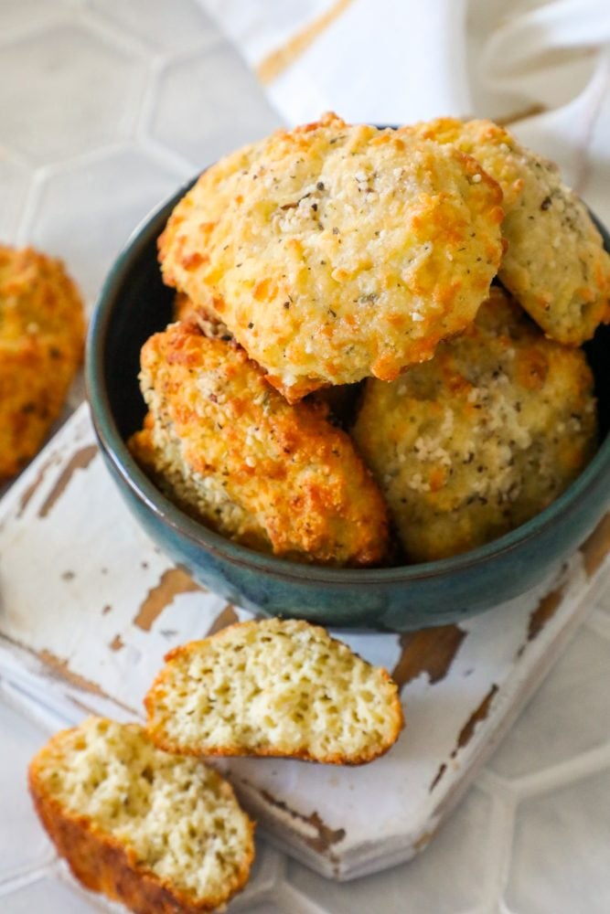
<svg viewBox="0 0 610 914">
<path fill-rule="evenodd" d="M 294 124 L 508 119 L 610 224 L 610 0 L 199 0 Z"/>
</svg>

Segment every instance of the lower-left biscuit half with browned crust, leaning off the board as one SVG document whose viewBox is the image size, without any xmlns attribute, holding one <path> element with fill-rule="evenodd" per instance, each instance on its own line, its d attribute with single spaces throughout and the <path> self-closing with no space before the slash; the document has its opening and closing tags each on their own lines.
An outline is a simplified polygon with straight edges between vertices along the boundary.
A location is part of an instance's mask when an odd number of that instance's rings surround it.
<svg viewBox="0 0 610 914">
<path fill-rule="evenodd" d="M 138 725 L 90 717 L 56 734 L 29 788 L 74 876 L 137 914 L 216 909 L 249 876 L 254 826 L 230 784 Z"/>
</svg>

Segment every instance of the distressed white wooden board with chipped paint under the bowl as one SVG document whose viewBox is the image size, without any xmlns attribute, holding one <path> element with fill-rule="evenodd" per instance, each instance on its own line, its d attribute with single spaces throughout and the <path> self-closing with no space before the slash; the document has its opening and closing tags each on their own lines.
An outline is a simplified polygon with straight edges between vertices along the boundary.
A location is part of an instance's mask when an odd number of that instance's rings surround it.
<svg viewBox="0 0 610 914">
<path fill-rule="evenodd" d="M 526 597 L 459 626 L 402 638 L 342 633 L 402 682 L 406 731 L 387 756 L 357 769 L 224 763 L 271 840 L 341 879 L 421 849 L 592 604 L 607 538 Z M 136 525 L 96 451 L 86 406 L 0 506 L 0 600 L 5 679 L 67 719 L 116 706 L 139 715 L 168 649 L 249 618 L 194 587 Z M 51 674 L 52 694 L 39 678 Z"/>
</svg>

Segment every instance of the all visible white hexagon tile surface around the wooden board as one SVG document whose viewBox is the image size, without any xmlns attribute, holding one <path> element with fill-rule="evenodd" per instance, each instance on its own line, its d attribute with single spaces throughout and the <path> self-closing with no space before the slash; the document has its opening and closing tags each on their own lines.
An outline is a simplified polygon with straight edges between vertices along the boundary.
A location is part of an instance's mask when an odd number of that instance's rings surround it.
<svg viewBox="0 0 610 914">
<path fill-rule="evenodd" d="M 65 260 L 90 307 L 151 207 L 279 122 L 194 0 L 0 0 L 0 239 Z M 609 670 L 606 586 L 420 856 L 340 884 L 261 840 L 230 910 L 607 914 Z M 14 673 L 0 663 L 0 910 L 118 911 L 71 880 L 37 824 L 27 762 L 66 717 Z"/>
</svg>

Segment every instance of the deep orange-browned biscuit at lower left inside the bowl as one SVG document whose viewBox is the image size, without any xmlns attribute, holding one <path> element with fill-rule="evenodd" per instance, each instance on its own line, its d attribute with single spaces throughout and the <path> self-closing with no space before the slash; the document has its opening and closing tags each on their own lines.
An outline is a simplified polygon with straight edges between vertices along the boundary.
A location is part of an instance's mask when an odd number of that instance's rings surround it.
<svg viewBox="0 0 610 914">
<path fill-rule="evenodd" d="M 225 536 L 284 558 L 369 565 L 387 515 L 321 404 L 289 406 L 237 345 L 172 324 L 142 350 L 150 417 L 130 447 L 170 497 Z"/>
</svg>

